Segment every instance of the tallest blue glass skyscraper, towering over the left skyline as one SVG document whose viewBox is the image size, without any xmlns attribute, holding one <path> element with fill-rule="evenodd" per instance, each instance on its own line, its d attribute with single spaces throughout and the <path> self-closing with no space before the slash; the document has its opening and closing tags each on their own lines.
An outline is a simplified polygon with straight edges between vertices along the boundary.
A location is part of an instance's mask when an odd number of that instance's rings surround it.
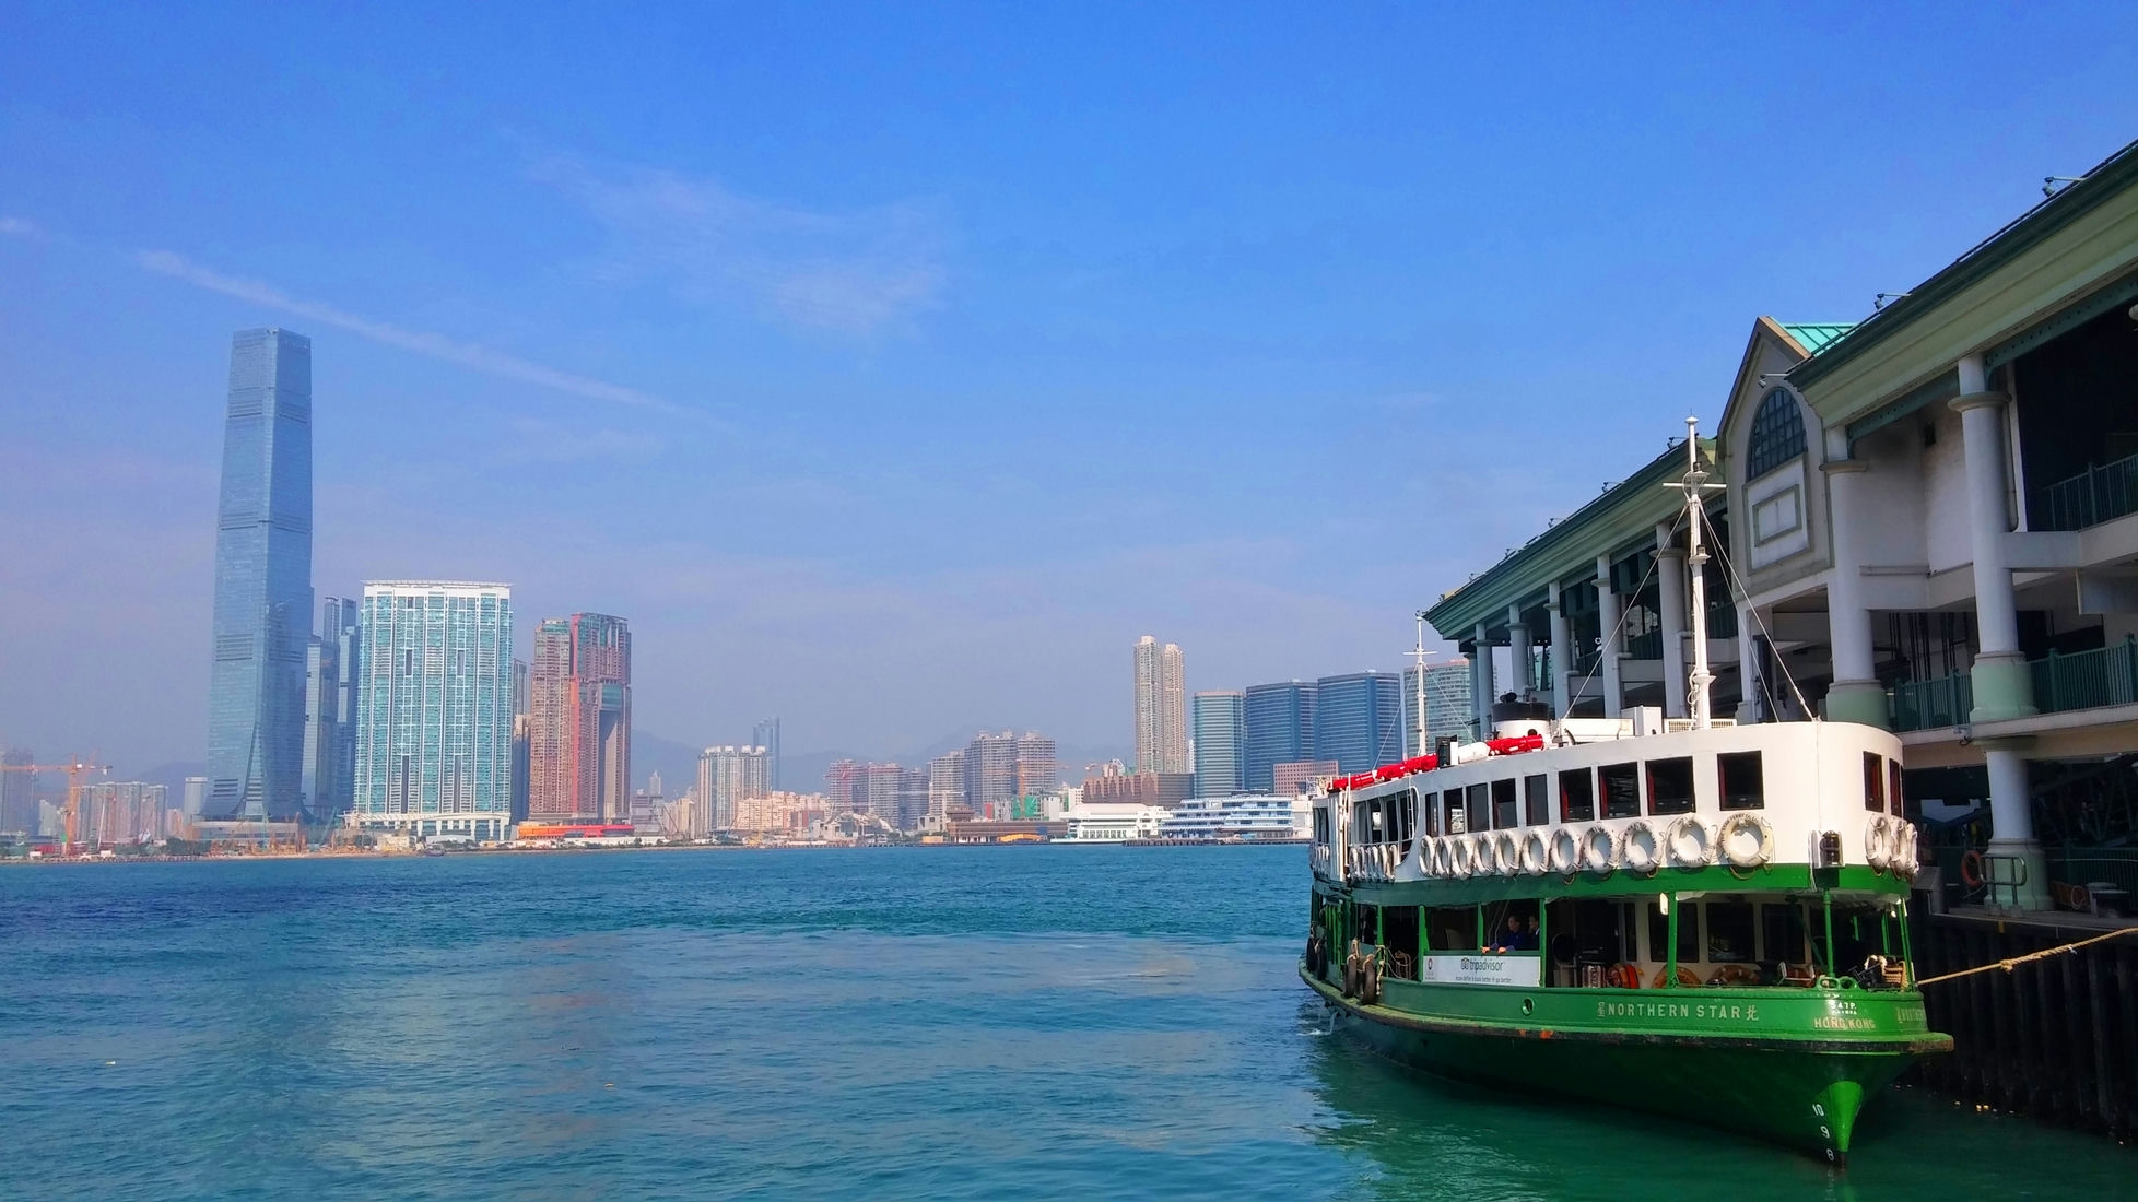
<svg viewBox="0 0 2138 1202">
<path fill-rule="evenodd" d="M 231 338 L 203 817 L 297 817 L 312 642 L 312 340 Z"/>
</svg>

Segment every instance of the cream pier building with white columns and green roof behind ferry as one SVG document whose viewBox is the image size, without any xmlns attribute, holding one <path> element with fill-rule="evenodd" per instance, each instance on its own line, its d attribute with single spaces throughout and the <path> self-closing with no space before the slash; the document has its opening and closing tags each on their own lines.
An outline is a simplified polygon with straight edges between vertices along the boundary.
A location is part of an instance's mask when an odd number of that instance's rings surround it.
<svg viewBox="0 0 2138 1202">
<path fill-rule="evenodd" d="M 2117 808 L 2102 764 L 2138 761 L 2134 306 L 2138 143 L 1860 323 L 1755 319 L 1700 445 L 1725 486 L 1704 539 L 1715 712 L 1901 734 L 1909 804 L 1986 802 L 2005 909 L 2085 870 L 2050 862 L 2038 811 L 2080 830 Z M 1576 714 L 1685 716 L 1689 571 L 1661 488 L 1683 471 L 1680 445 L 1428 620 L 1473 665 L 1548 631 Z M 1473 710 L 1520 684 L 1479 680 Z"/>
</svg>

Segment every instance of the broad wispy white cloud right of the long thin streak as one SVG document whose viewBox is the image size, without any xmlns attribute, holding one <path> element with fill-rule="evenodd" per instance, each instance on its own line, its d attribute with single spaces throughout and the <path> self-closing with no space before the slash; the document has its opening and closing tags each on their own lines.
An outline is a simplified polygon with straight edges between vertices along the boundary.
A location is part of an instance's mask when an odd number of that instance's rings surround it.
<svg viewBox="0 0 2138 1202">
<path fill-rule="evenodd" d="M 742 295 L 772 317 L 877 334 L 941 302 L 941 220 L 924 203 L 808 212 L 673 171 L 618 175 L 552 156 L 530 175 L 579 201 L 611 246 L 609 280 L 661 278 L 693 302 Z"/>
</svg>

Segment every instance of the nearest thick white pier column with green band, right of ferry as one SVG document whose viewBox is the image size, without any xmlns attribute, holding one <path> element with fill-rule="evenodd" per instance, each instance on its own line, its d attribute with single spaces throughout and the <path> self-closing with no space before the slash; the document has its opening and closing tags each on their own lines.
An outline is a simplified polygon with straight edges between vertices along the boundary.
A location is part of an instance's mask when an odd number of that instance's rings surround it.
<svg viewBox="0 0 2138 1202">
<path fill-rule="evenodd" d="M 1952 409 L 1961 415 L 1961 438 L 1967 445 L 1967 533 L 1976 558 L 1976 665 L 1969 682 L 1976 708 L 1969 723 L 2023 719 L 2033 714 L 2033 674 L 2018 650 L 2018 599 L 2012 595 L 2012 560 L 2005 535 L 2012 515 L 2005 503 L 2005 428 L 2003 406 L 2010 398 L 1988 391 L 1982 355 L 1958 364 L 1961 396 Z M 2048 860 L 2033 838 L 2033 798 L 2027 789 L 2025 740 L 1982 740 L 1982 759 L 1990 776 L 1990 845 L 1993 881 L 2010 881 L 2012 860 L 2025 864 L 2027 881 L 2016 890 L 1990 890 L 1993 900 L 2020 909 L 2048 909 Z"/>
</svg>

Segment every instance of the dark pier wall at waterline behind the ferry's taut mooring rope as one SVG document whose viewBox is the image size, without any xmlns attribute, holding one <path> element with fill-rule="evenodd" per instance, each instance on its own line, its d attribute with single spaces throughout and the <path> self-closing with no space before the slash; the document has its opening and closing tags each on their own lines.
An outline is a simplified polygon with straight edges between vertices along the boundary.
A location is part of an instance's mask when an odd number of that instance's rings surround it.
<svg viewBox="0 0 2138 1202">
<path fill-rule="evenodd" d="M 1909 939 L 1916 973 L 1928 980 L 2106 930 L 2104 924 L 2067 926 L 2057 915 L 1997 920 L 1916 911 Z M 2138 935 L 2012 971 L 1931 984 L 1922 999 L 1931 1029 L 1952 1035 L 1954 1050 L 1911 1069 L 1911 1084 L 2119 1142 L 2132 1138 L 2138 1125 Z"/>
</svg>

